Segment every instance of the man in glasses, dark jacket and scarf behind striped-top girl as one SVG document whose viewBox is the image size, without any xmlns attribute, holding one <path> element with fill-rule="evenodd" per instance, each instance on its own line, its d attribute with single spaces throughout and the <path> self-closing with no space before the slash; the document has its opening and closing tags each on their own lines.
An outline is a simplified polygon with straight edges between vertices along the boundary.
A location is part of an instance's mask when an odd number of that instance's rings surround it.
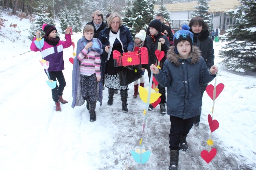
<svg viewBox="0 0 256 170">
<path fill-rule="evenodd" d="M 94 27 L 94 38 L 99 38 L 100 32 L 108 25 L 103 22 L 103 13 L 99 10 L 91 14 L 93 21 L 88 22 L 86 25 L 91 24 Z"/>
</svg>

